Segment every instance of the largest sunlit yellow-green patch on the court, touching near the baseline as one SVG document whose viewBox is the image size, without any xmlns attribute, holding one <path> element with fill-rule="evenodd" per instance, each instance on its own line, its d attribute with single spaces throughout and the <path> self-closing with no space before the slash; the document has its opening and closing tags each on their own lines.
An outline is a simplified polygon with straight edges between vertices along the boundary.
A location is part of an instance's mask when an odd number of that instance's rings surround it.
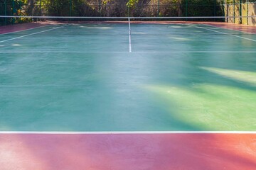
<svg viewBox="0 0 256 170">
<path fill-rule="evenodd" d="M 146 85 L 144 88 L 155 94 L 155 100 L 171 117 L 201 130 L 256 128 L 255 91 L 213 84 L 193 84 L 190 88 Z"/>
</svg>

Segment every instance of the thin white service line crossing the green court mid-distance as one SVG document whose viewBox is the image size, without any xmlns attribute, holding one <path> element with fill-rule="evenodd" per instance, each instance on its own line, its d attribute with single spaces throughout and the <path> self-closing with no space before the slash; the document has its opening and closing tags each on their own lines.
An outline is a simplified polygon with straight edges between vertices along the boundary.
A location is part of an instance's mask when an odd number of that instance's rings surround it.
<svg viewBox="0 0 256 170">
<path fill-rule="evenodd" d="M 87 51 L 0 51 L 0 53 L 130 53 L 130 52 L 87 52 Z M 256 51 L 138 51 L 132 53 L 256 53 Z"/>
</svg>

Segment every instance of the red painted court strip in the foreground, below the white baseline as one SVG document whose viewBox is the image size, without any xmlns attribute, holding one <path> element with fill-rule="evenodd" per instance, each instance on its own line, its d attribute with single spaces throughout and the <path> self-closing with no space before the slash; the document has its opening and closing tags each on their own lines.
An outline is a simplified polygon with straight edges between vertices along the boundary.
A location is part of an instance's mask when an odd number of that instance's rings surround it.
<svg viewBox="0 0 256 170">
<path fill-rule="evenodd" d="M 256 135 L 0 135 L 1 170 L 254 170 Z"/>
</svg>

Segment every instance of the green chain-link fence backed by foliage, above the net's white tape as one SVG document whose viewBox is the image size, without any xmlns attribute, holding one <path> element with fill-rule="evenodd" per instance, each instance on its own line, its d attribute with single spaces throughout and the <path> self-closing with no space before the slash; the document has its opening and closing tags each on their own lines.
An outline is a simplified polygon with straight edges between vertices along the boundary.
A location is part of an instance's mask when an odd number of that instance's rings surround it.
<svg viewBox="0 0 256 170">
<path fill-rule="evenodd" d="M 0 0 L 9 16 L 224 16 L 220 0 Z M 1 25 L 29 18 L 1 18 Z"/>
</svg>

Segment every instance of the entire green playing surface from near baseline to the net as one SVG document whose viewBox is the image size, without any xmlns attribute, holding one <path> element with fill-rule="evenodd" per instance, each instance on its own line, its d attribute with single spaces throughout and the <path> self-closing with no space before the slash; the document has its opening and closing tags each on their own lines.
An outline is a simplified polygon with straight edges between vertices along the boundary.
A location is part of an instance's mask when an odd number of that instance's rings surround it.
<svg viewBox="0 0 256 170">
<path fill-rule="evenodd" d="M 255 34 L 128 30 L 84 23 L 0 35 L 0 130 L 256 130 Z"/>
</svg>

